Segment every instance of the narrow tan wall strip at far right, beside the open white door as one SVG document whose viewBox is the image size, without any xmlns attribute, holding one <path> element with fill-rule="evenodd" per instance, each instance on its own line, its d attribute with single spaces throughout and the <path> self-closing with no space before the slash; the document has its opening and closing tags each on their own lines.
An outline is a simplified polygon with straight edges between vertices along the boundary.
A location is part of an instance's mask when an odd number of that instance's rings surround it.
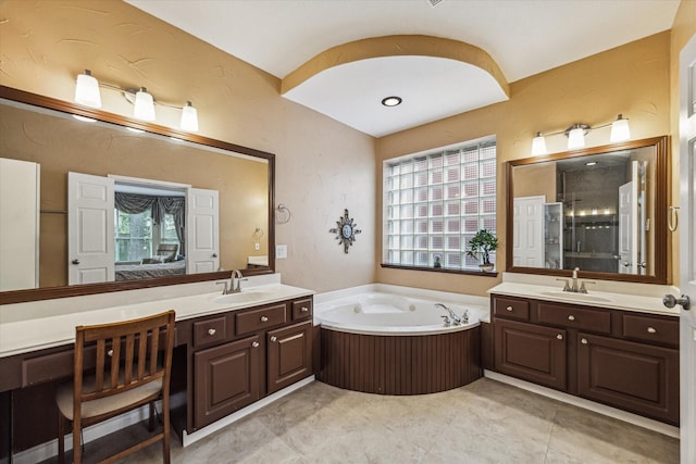
<svg viewBox="0 0 696 464">
<path fill-rule="evenodd" d="M 679 173 L 680 173 L 680 140 L 679 140 L 679 54 L 688 42 L 688 40 L 696 35 L 696 1 L 682 0 L 676 15 L 674 16 L 674 23 L 671 29 L 671 47 L 670 47 L 670 89 L 671 89 L 671 111 L 670 111 L 670 124 L 672 137 L 672 181 L 671 181 L 671 201 L 670 204 L 679 204 Z M 679 231 L 670 233 L 672 240 L 671 243 L 671 259 L 674 265 L 672 266 L 673 283 L 680 285 L 680 269 L 679 269 Z"/>
</svg>

